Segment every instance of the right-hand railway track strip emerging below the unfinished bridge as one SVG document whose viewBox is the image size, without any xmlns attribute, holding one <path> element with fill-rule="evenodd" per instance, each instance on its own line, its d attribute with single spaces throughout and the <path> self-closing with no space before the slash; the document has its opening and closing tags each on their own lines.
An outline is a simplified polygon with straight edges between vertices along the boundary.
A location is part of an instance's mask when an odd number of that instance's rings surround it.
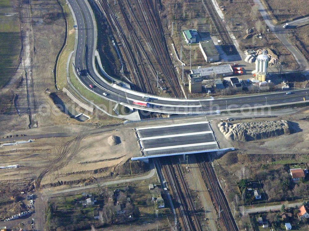
<svg viewBox="0 0 309 231">
<path fill-rule="evenodd" d="M 221 221 L 222 225 L 224 225 L 224 227 L 222 226 L 222 228 L 224 228 L 226 231 L 238 231 L 239 229 L 231 213 L 231 209 L 222 191 L 222 188 L 220 187 L 217 176 L 214 172 L 214 168 L 212 167 L 209 160 L 205 158 L 205 155 L 197 155 L 197 162 L 200 169 L 204 170 L 204 172 L 202 172 L 202 175 L 205 184 L 209 189 L 210 196 L 213 199 L 214 207 L 220 214 L 219 221 Z"/>
</svg>

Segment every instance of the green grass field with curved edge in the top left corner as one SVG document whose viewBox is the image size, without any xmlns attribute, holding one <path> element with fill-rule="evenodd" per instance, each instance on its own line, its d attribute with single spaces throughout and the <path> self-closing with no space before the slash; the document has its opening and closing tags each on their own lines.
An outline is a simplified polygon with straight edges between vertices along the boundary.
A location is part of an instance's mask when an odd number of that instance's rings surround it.
<svg viewBox="0 0 309 231">
<path fill-rule="evenodd" d="M 21 38 L 15 2 L 0 0 L 0 88 L 10 81 L 19 63 Z"/>
</svg>

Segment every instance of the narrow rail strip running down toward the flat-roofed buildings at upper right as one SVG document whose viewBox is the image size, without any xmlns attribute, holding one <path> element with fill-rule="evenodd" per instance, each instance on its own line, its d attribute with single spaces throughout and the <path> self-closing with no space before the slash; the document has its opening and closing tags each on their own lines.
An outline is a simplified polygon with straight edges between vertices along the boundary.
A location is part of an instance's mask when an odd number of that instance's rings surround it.
<svg viewBox="0 0 309 231">
<path fill-rule="evenodd" d="M 208 11 L 210 18 L 214 26 L 216 27 L 216 30 L 218 31 L 218 33 L 222 38 L 223 43 L 227 46 L 229 51 L 235 52 L 236 49 L 234 46 L 234 42 L 231 39 L 231 36 L 227 31 L 225 24 L 222 22 L 219 15 L 216 13 L 217 11 L 211 0 L 202 0 L 202 3 L 205 6 L 206 10 Z"/>
</svg>

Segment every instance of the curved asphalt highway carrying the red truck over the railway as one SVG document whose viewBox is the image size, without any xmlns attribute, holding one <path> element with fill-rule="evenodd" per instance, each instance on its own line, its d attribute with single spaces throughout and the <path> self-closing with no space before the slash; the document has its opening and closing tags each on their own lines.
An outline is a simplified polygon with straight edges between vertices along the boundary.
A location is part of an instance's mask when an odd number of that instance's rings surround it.
<svg viewBox="0 0 309 231">
<path fill-rule="evenodd" d="M 103 98 L 112 100 L 115 102 L 123 103 L 130 107 L 137 109 L 145 109 L 148 111 L 163 112 L 163 113 L 208 113 L 216 112 L 216 110 L 227 109 L 240 109 L 245 107 L 263 106 L 282 104 L 289 102 L 303 101 L 303 98 L 307 98 L 309 89 L 296 90 L 293 94 L 287 95 L 286 92 L 269 93 L 265 95 L 251 95 L 243 97 L 231 97 L 231 98 L 218 98 L 214 100 L 209 99 L 171 99 L 152 96 L 151 108 L 141 108 L 133 105 L 133 101 L 144 101 L 143 94 L 134 92 L 122 88 L 120 86 L 111 85 L 101 76 L 99 76 L 94 65 L 94 51 L 96 49 L 96 24 L 91 7 L 87 0 L 68 0 L 70 3 L 78 26 L 78 43 L 75 52 L 74 65 L 76 70 L 87 70 L 87 73 L 79 75 L 79 79 L 87 86 L 91 91 Z M 91 89 L 89 85 L 95 87 Z M 107 93 L 107 96 L 103 96 L 103 93 Z M 309 98 L 308 98 L 309 99 Z"/>
</svg>

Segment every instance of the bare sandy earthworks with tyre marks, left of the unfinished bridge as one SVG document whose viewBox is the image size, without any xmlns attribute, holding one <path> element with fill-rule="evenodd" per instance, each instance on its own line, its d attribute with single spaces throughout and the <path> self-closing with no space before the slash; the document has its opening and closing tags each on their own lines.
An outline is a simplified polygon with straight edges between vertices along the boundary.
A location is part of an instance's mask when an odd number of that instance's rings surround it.
<svg viewBox="0 0 309 231">
<path fill-rule="evenodd" d="M 20 166 L 1 169 L 1 183 L 30 181 L 37 187 L 49 187 L 58 181 L 83 183 L 90 177 L 110 177 L 117 166 L 140 155 L 132 125 L 92 130 L 78 125 L 52 126 L 17 134 L 26 136 L 2 138 L 0 143 L 28 139 L 33 142 L 0 147 L 2 166 Z M 112 135 L 118 137 L 118 144 L 108 144 Z"/>
</svg>

